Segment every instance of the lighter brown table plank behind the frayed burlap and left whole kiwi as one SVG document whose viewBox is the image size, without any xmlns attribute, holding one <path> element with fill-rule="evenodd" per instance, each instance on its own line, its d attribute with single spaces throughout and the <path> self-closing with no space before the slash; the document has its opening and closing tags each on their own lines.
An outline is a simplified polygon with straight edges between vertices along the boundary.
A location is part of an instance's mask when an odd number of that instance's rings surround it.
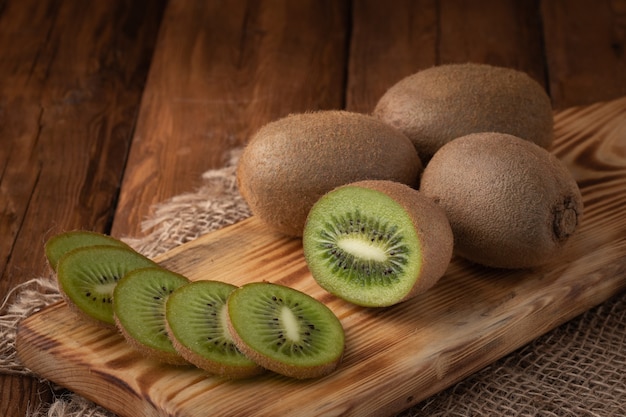
<svg viewBox="0 0 626 417">
<path fill-rule="evenodd" d="M 346 1 L 170 2 L 113 234 L 191 191 L 224 153 L 288 113 L 343 106 Z"/>
</svg>

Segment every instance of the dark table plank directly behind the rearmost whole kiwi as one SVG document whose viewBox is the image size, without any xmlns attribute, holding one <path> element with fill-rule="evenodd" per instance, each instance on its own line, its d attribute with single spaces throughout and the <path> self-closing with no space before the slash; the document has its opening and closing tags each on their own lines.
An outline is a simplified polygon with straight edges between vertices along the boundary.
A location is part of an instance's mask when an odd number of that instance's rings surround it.
<svg viewBox="0 0 626 417">
<path fill-rule="evenodd" d="M 516 68 L 545 85 L 537 11 L 538 0 L 355 1 L 347 108 L 370 112 L 401 78 L 447 63 Z"/>
</svg>

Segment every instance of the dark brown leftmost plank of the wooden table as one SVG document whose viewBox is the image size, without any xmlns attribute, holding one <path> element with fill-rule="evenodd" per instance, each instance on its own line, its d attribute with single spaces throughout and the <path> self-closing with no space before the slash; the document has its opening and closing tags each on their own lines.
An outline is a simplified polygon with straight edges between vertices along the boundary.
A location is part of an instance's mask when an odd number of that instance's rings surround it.
<svg viewBox="0 0 626 417">
<path fill-rule="evenodd" d="M 2 2 L 2 300 L 47 273 L 33 245 L 66 229 L 108 231 L 162 8 Z M 45 391 L 0 376 L 0 415 L 25 415 Z"/>
</svg>

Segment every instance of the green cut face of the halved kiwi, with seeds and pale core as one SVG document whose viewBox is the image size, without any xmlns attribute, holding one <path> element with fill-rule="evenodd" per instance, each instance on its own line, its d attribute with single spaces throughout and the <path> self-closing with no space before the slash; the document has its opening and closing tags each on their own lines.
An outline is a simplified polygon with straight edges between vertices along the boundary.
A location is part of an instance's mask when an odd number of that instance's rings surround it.
<svg viewBox="0 0 626 417">
<path fill-rule="evenodd" d="M 413 220 L 380 191 L 344 186 L 320 198 L 309 213 L 303 248 L 317 283 L 357 305 L 395 304 L 420 278 Z"/>
</svg>

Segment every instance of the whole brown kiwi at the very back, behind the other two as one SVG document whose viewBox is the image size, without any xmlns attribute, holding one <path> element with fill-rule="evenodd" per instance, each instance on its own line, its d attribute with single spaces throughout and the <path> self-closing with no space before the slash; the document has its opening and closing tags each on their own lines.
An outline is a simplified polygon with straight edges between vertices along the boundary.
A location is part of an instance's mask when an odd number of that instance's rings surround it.
<svg viewBox="0 0 626 417">
<path fill-rule="evenodd" d="M 445 143 L 470 133 L 508 133 L 543 148 L 553 139 L 544 88 L 525 72 L 488 64 L 418 71 L 391 86 L 373 115 L 407 135 L 424 164 Z"/>
</svg>

